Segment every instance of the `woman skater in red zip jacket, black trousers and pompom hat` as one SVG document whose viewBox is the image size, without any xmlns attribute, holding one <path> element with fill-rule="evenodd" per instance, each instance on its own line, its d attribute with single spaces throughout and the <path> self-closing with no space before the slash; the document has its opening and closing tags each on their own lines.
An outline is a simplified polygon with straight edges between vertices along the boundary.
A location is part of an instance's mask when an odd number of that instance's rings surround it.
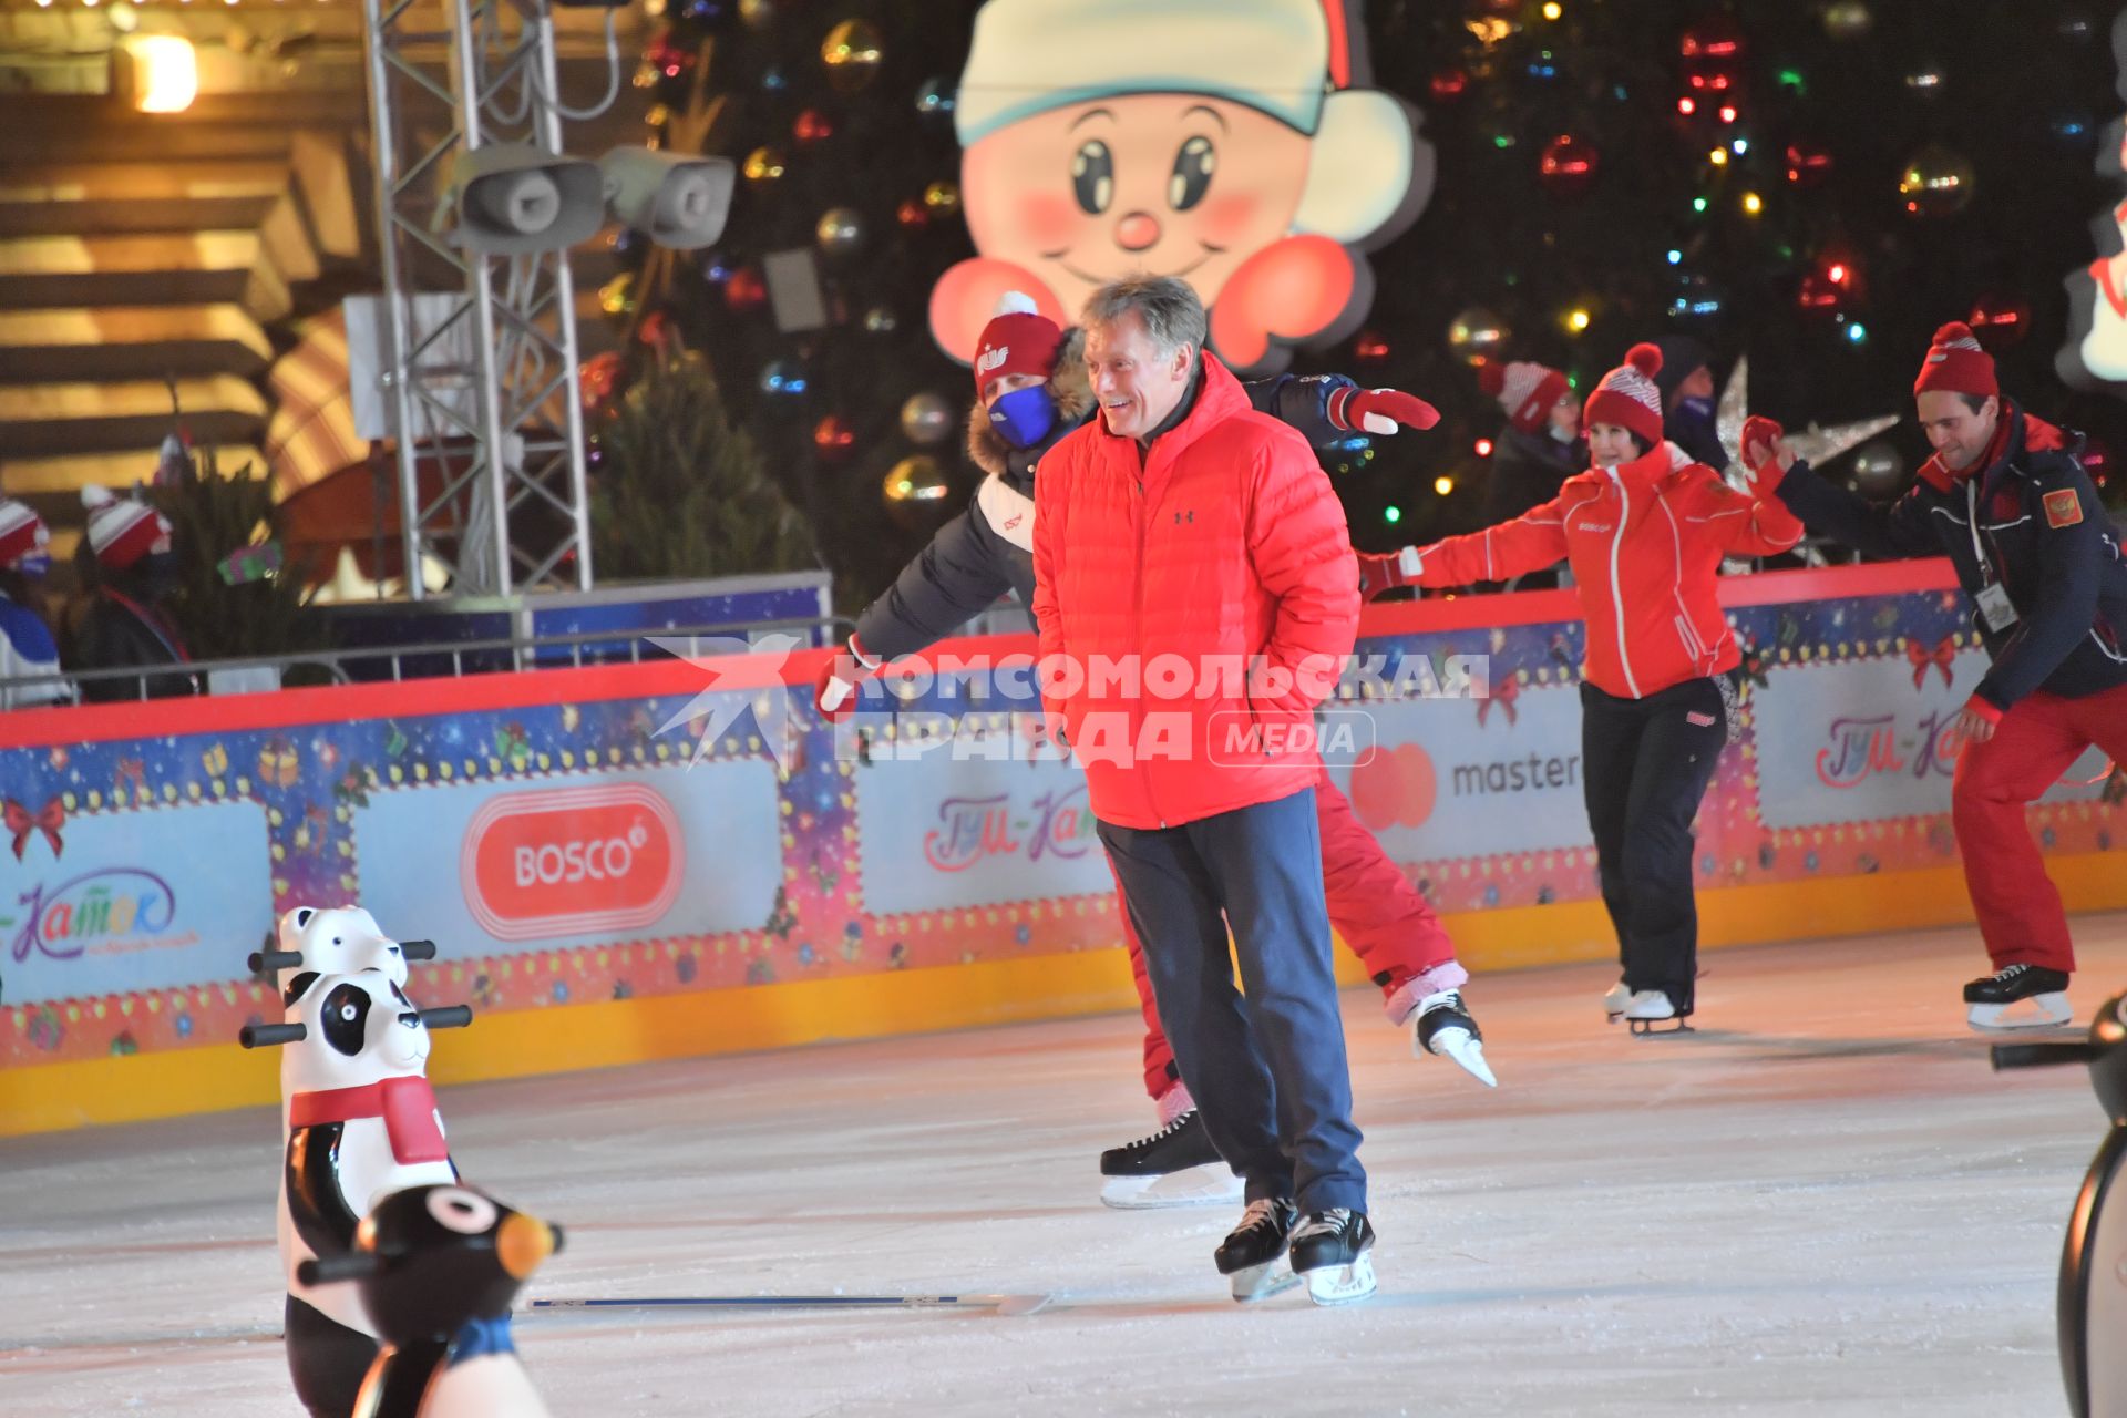
<svg viewBox="0 0 2127 1418">
<path fill-rule="evenodd" d="M 1636 1031 L 1682 1029 L 1699 918 L 1691 818 L 1734 721 L 1742 659 L 1714 576 L 1723 555 L 1802 540 L 1778 497 L 1751 500 L 1661 438 L 1661 351 L 1636 344 L 1580 419 L 1593 468 L 1523 517 L 1389 553 L 1374 583 L 1461 587 L 1565 559 L 1587 617 L 1580 753 L 1602 899 L 1623 980 L 1604 997 Z M 1387 574 L 1385 574 L 1387 572 Z"/>
</svg>

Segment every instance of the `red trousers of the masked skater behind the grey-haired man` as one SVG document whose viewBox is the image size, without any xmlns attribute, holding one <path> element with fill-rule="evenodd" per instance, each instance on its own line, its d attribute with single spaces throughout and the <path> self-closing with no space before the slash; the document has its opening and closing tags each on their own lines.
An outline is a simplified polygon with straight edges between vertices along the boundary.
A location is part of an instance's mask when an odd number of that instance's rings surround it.
<svg viewBox="0 0 2127 1418">
<path fill-rule="evenodd" d="M 1329 901 L 1329 925 L 1366 972 L 1380 984 L 1383 995 L 1395 991 L 1434 965 L 1455 959 L 1455 942 L 1448 940 L 1440 916 L 1425 904 L 1389 855 L 1380 850 L 1357 816 L 1351 799 L 1338 791 L 1323 772 L 1314 780 L 1314 821 L 1323 840 L 1323 895 Z M 1117 887 L 1121 895 L 1121 887 Z M 1123 944 L 1129 946 L 1129 974 L 1138 982 L 1138 1006 L 1144 1010 L 1144 1091 L 1157 1099 L 1174 1086 L 1174 1050 L 1159 1029 L 1159 1008 L 1153 1003 L 1153 984 L 1144 976 L 1144 948 L 1138 931 L 1123 918 Z"/>
</svg>

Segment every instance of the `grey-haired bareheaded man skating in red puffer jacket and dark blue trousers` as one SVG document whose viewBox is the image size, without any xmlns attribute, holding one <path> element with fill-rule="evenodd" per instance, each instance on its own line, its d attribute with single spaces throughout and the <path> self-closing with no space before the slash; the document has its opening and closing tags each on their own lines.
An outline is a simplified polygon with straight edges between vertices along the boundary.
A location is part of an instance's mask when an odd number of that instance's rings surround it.
<svg viewBox="0 0 2127 1418">
<path fill-rule="evenodd" d="M 1257 1299 L 1289 1250 L 1319 1303 L 1363 1299 L 1374 1233 L 1312 789 L 1312 710 L 1359 629 L 1344 510 L 1306 442 L 1204 353 L 1187 283 L 1102 287 L 1085 327 L 1100 421 L 1036 483 L 1042 697 L 1085 765 L 1183 1082 L 1244 1182 L 1219 1271 Z"/>
</svg>

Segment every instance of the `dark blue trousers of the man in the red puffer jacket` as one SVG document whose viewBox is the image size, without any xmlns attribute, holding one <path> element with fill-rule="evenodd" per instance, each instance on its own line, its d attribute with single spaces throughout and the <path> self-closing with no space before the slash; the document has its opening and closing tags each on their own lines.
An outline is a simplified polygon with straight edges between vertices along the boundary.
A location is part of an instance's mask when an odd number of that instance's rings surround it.
<svg viewBox="0 0 2127 1418">
<path fill-rule="evenodd" d="M 1100 840 L 1183 1082 L 1249 1199 L 1363 1212 L 1314 789 L 1180 827 L 1102 823 Z"/>
</svg>

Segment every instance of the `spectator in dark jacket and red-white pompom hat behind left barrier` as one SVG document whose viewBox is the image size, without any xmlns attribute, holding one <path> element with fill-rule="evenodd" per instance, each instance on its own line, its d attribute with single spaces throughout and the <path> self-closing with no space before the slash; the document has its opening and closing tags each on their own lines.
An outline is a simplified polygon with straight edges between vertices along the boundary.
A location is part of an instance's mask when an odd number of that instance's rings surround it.
<svg viewBox="0 0 2127 1418">
<path fill-rule="evenodd" d="M 153 670 L 191 659 L 185 636 L 170 619 L 177 595 L 177 555 L 170 519 L 136 497 L 102 487 L 81 489 L 89 508 L 87 536 L 74 557 L 89 604 L 72 636 L 72 670 Z M 132 674 L 85 678 L 87 702 L 166 699 L 196 695 L 191 674 Z"/>
</svg>

